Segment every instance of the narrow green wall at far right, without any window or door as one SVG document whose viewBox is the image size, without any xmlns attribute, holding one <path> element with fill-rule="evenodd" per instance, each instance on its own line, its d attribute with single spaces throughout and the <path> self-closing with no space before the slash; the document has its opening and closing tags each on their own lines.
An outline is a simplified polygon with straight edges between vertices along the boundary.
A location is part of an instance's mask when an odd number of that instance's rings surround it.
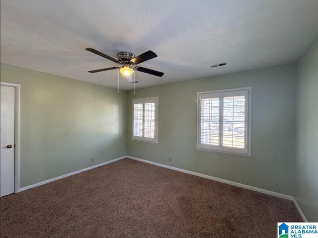
<svg viewBox="0 0 318 238">
<path fill-rule="evenodd" d="M 295 198 L 309 222 L 318 222 L 318 39 L 297 64 Z"/>
</svg>

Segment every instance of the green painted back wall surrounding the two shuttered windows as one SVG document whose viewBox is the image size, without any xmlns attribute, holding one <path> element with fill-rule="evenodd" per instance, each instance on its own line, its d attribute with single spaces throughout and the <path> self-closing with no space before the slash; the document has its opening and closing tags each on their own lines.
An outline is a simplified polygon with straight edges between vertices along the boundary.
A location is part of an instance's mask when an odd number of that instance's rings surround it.
<svg viewBox="0 0 318 238">
<path fill-rule="evenodd" d="M 252 158 L 197 151 L 197 92 L 248 86 L 252 87 Z M 132 141 L 132 99 L 153 96 L 159 97 L 159 145 Z M 129 91 L 127 153 L 293 195 L 295 96 L 296 78 L 292 66 L 139 89 L 136 94 Z"/>
</svg>

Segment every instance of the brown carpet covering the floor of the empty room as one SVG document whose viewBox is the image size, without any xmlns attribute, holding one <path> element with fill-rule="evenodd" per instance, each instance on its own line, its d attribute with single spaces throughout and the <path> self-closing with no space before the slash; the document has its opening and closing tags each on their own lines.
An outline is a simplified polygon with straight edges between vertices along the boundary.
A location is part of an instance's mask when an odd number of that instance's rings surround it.
<svg viewBox="0 0 318 238">
<path fill-rule="evenodd" d="M 1 238 L 272 238 L 292 201 L 122 159 L 2 197 Z"/>
</svg>

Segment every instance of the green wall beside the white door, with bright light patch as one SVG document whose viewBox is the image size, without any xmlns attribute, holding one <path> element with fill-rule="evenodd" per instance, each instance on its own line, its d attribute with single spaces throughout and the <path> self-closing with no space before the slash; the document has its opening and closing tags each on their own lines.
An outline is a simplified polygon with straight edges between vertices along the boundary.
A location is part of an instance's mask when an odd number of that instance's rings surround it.
<svg viewBox="0 0 318 238">
<path fill-rule="evenodd" d="M 127 92 L 5 65 L 0 72 L 21 85 L 20 187 L 126 156 Z"/>
</svg>

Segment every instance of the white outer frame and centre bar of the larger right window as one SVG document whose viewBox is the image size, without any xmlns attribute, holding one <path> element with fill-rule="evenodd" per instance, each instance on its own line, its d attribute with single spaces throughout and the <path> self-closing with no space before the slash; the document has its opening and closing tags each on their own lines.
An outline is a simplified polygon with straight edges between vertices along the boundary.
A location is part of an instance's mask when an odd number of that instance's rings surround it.
<svg viewBox="0 0 318 238">
<path fill-rule="evenodd" d="M 231 96 L 231 93 L 234 91 L 246 90 L 246 102 L 245 102 L 245 142 L 246 147 L 243 150 L 228 148 L 225 150 L 222 142 L 219 141 L 219 145 L 208 145 L 200 143 L 201 140 L 201 99 L 202 98 L 212 98 L 209 97 L 209 94 L 215 94 L 219 96 L 219 138 L 222 138 L 223 135 L 223 100 L 224 97 Z M 240 157 L 251 157 L 251 90 L 252 87 L 240 87 L 240 88 L 231 88 L 224 90 L 214 90 L 214 91 L 205 91 L 197 93 L 197 147 L 198 151 L 217 153 L 217 154 L 229 154 L 236 155 Z M 228 94 L 228 95 L 227 95 Z M 234 95 L 235 96 L 235 95 Z M 239 152 L 242 151 L 242 152 Z"/>
</svg>

